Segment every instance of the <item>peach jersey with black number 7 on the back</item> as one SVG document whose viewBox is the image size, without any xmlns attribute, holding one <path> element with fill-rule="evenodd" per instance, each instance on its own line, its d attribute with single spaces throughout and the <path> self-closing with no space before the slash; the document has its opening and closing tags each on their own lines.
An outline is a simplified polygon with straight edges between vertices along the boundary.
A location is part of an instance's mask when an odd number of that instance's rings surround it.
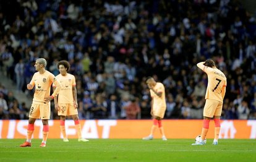
<svg viewBox="0 0 256 162">
<path fill-rule="evenodd" d="M 223 87 L 227 85 L 226 76 L 221 70 L 205 66 L 203 71 L 207 73 L 208 85 L 207 92 L 205 93 L 205 99 L 212 99 L 223 101 L 221 91 Z"/>
</svg>

